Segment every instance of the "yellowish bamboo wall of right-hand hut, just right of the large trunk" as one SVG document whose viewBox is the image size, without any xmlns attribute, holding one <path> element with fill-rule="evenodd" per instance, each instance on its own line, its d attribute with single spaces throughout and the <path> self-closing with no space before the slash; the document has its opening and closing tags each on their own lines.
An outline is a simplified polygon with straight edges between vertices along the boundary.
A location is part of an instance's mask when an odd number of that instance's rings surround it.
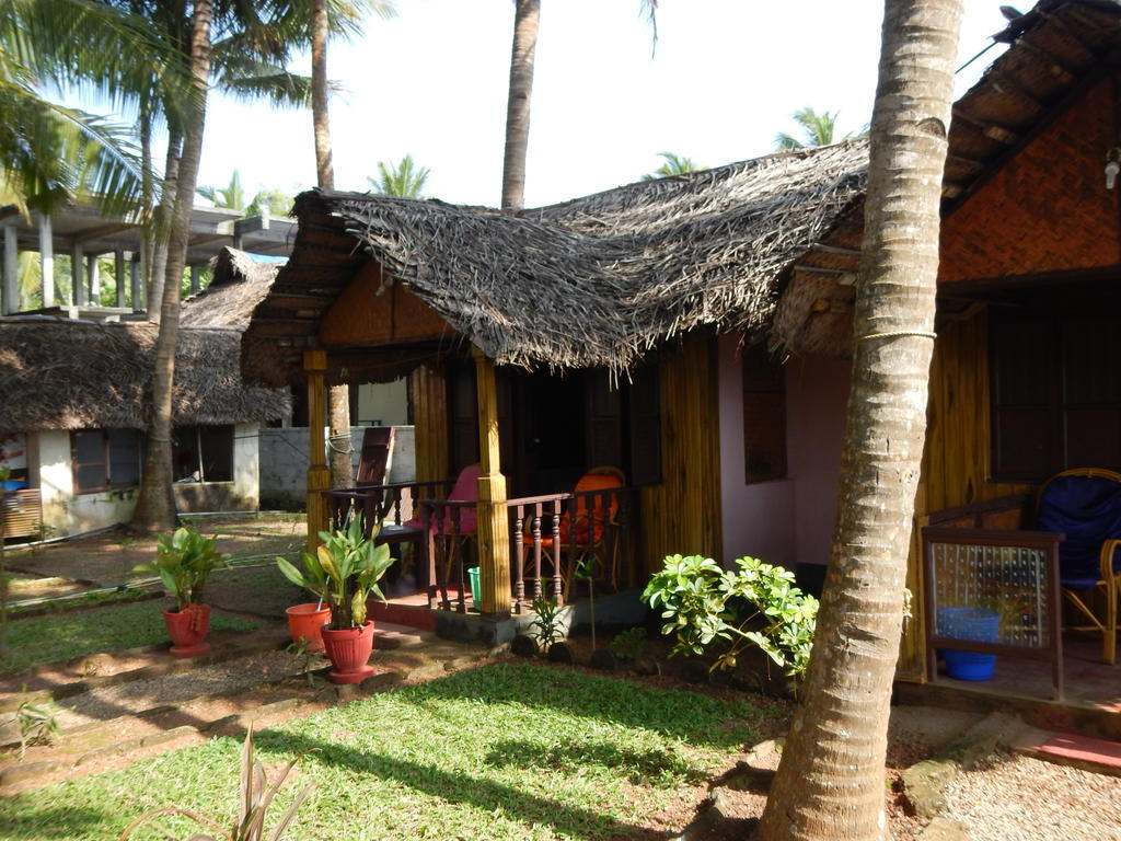
<svg viewBox="0 0 1121 841">
<path fill-rule="evenodd" d="M 1022 493 L 1027 484 L 990 482 L 989 320 L 984 311 L 938 325 L 930 362 L 923 477 L 915 498 L 915 530 L 907 562 L 914 619 L 900 650 L 898 676 L 924 680 L 921 529 L 944 508 Z"/>
</svg>

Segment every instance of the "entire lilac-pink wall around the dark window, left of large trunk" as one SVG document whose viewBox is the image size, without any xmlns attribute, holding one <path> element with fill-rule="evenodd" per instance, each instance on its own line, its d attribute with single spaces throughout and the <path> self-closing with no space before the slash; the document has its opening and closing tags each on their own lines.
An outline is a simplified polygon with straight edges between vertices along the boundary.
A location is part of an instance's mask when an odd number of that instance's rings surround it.
<svg viewBox="0 0 1121 841">
<path fill-rule="evenodd" d="M 786 367 L 787 478 L 747 484 L 739 338 L 719 351 L 721 517 L 725 564 L 741 555 L 794 569 L 828 561 L 841 470 L 847 360 L 794 359 Z"/>
</svg>

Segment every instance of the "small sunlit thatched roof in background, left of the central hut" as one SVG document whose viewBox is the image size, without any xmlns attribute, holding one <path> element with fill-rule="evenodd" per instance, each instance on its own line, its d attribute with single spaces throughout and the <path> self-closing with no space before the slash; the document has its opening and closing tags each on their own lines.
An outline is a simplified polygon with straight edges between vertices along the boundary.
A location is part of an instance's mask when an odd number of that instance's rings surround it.
<svg viewBox="0 0 1121 841">
<path fill-rule="evenodd" d="M 257 260 L 235 248 L 223 248 L 211 264 L 214 277 L 210 286 L 183 302 L 182 323 L 244 327 L 253 309 L 269 294 L 281 265 Z"/>
</svg>

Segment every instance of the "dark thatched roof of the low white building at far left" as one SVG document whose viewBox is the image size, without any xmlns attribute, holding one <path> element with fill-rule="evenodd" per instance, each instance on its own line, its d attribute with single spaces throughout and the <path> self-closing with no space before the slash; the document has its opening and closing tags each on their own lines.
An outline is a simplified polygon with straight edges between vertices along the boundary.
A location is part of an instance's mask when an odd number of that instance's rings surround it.
<svg viewBox="0 0 1121 841">
<path fill-rule="evenodd" d="M 0 429 L 143 428 L 157 330 L 147 323 L 3 318 Z M 234 424 L 288 414 L 286 392 L 242 382 L 240 353 L 240 330 L 179 331 L 174 423 Z"/>
</svg>

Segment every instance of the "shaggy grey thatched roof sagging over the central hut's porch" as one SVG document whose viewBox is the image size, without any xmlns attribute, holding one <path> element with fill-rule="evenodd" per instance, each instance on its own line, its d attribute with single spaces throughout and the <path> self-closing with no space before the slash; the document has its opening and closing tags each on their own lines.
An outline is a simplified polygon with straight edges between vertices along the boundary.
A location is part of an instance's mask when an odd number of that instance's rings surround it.
<svg viewBox="0 0 1121 841">
<path fill-rule="evenodd" d="M 298 371 L 315 315 L 367 257 L 503 364 L 620 370 L 696 327 L 758 329 L 772 314 L 782 270 L 861 195 L 865 167 L 867 144 L 855 140 L 640 182 L 519 216 L 304 193 L 293 256 L 247 332 L 247 370 L 279 381 L 279 352 L 288 376 Z M 322 296 L 318 304 L 309 293 Z"/>
</svg>

